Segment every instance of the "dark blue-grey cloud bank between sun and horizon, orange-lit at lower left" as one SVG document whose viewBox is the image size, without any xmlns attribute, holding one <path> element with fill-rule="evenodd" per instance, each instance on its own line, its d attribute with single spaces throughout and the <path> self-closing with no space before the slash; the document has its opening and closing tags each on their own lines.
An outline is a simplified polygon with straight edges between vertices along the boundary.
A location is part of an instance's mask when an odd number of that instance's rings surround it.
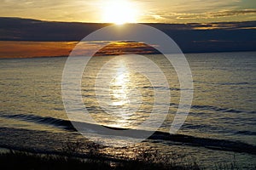
<svg viewBox="0 0 256 170">
<path fill-rule="evenodd" d="M 0 17 L 0 23 L 0 40 L 26 41 L 26 48 L 23 48 L 20 42 L 16 42 L 20 44 L 20 48 L 16 48 L 17 50 L 13 53 L 10 53 L 10 51 L 14 49 L 16 43 L 11 43 L 7 47 L 3 45 L 3 42 L 2 46 L 0 44 L 0 52 L 2 50 L 0 58 L 1 55 L 14 53 L 15 56 L 19 55 L 20 57 L 23 54 L 26 56 L 65 55 L 73 47 L 73 42 L 81 40 L 92 31 L 109 26 L 108 24 L 63 23 L 3 17 Z M 148 26 L 154 26 L 160 31 L 164 31 L 166 35 L 177 42 L 185 53 L 255 50 L 256 39 L 252 35 L 256 31 L 256 21 L 207 24 L 148 24 Z M 40 43 L 37 43 L 38 46 L 34 47 L 32 41 Z M 30 43 L 27 46 L 28 42 Z M 53 42 L 50 45 L 51 48 L 39 50 L 39 48 L 43 49 L 40 45 L 45 44 L 44 42 Z M 86 47 L 89 46 L 93 47 L 93 44 L 86 45 Z M 133 47 L 136 47 L 137 51 L 143 51 L 136 43 L 133 43 Z M 112 50 L 112 48 L 109 49 Z M 122 49 L 126 50 L 126 48 Z"/>
</svg>

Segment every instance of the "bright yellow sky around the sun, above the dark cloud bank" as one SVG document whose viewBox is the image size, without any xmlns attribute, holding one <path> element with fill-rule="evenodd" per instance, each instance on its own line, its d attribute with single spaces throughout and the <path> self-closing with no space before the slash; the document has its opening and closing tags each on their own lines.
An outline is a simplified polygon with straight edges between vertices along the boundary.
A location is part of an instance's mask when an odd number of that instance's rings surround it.
<svg viewBox="0 0 256 170">
<path fill-rule="evenodd" d="M 255 0 L 0 0 L 1 17 L 91 23 L 256 20 Z"/>
</svg>

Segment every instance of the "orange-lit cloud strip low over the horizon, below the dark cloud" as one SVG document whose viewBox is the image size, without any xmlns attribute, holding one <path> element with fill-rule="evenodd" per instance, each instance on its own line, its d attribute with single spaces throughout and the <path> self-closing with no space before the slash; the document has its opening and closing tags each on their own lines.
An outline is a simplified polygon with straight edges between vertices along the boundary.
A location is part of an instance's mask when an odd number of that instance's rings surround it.
<svg viewBox="0 0 256 170">
<path fill-rule="evenodd" d="M 36 58 L 68 56 L 78 42 L 11 42 L 0 41 L 0 58 Z M 98 48 L 99 42 L 82 42 L 74 55 L 90 54 Z M 81 44 L 81 43 L 80 43 Z M 111 42 L 96 52 L 99 55 L 155 54 L 156 49 L 143 42 Z"/>
</svg>

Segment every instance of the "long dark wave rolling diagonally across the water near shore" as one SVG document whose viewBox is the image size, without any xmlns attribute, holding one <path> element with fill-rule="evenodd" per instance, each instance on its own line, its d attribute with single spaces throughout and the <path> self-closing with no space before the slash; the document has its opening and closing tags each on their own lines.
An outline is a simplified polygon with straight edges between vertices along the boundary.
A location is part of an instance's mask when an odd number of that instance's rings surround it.
<svg viewBox="0 0 256 170">
<path fill-rule="evenodd" d="M 1 116 L 5 118 L 19 119 L 19 120 L 24 120 L 28 122 L 49 124 L 55 127 L 65 128 L 70 131 L 76 131 L 76 129 L 73 127 L 72 122 L 68 120 L 54 118 L 54 117 L 20 115 L 20 114 L 1 115 Z M 86 122 L 76 122 L 76 123 L 79 123 L 79 126 L 93 127 L 94 129 L 99 129 L 99 127 L 102 127 L 102 125 L 90 124 Z M 128 130 L 126 128 L 117 128 L 117 127 L 108 127 L 108 126 L 104 126 L 104 127 L 107 127 L 116 131 L 123 131 L 123 132 L 125 130 Z M 146 130 L 136 130 L 136 129 L 133 129 L 133 130 L 137 133 L 142 133 L 142 134 L 149 132 Z M 105 135 L 105 133 L 104 132 L 102 133 L 101 131 L 94 132 L 94 133 Z M 170 133 L 165 133 L 161 131 L 156 131 L 152 133 L 153 134 L 150 137 L 148 137 L 148 139 L 154 139 L 154 140 L 157 139 L 162 141 L 165 140 L 165 141 L 175 142 L 175 144 L 186 144 L 186 145 L 197 146 L 197 147 L 201 146 L 201 147 L 205 147 L 212 150 L 227 150 L 227 151 L 244 152 L 244 153 L 256 155 L 256 145 L 247 144 L 240 141 L 230 141 L 226 139 L 200 138 L 200 137 L 194 137 L 194 136 L 189 136 L 184 134 L 170 134 Z M 249 132 L 249 131 L 239 131 L 237 133 L 245 133 L 249 135 L 255 134 L 254 132 Z M 170 143 L 170 144 L 173 144 L 173 143 Z"/>
</svg>

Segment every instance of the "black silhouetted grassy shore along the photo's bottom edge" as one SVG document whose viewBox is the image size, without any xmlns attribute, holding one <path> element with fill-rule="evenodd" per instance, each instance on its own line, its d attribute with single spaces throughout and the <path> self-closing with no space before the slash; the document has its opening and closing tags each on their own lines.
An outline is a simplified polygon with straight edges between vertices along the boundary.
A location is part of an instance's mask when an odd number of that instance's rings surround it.
<svg viewBox="0 0 256 170">
<path fill-rule="evenodd" d="M 3 150 L 3 148 L 0 148 Z M 150 153 L 148 150 L 137 152 L 137 157 L 129 158 L 109 158 L 97 153 L 88 153 L 79 156 L 74 153 L 38 153 L 27 150 L 4 149 L 0 151 L 0 166 L 12 167 L 15 169 L 179 169 L 179 170 L 201 170 L 201 169 L 254 169 L 256 164 L 243 165 L 236 160 L 226 163 L 213 163 L 212 165 L 201 165 L 193 156 L 188 158 L 158 157 L 158 152 Z M 40 166 L 39 166 L 40 165 Z M 63 166 L 63 167 L 62 167 Z"/>
</svg>

